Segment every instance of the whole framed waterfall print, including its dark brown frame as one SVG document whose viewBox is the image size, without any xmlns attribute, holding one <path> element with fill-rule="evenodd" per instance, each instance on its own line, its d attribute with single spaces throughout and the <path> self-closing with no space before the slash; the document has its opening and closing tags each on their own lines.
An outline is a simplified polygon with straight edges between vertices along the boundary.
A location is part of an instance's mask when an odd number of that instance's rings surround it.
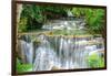
<svg viewBox="0 0 111 76">
<path fill-rule="evenodd" d="M 12 1 L 12 75 L 107 69 L 107 7 Z"/>
</svg>

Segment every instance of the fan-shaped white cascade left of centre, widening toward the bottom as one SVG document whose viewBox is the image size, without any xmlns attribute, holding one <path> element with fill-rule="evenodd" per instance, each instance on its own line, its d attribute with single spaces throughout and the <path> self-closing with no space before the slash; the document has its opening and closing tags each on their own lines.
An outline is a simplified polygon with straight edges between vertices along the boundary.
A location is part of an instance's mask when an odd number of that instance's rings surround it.
<svg viewBox="0 0 111 76">
<path fill-rule="evenodd" d="M 51 63 L 54 63 L 57 55 L 51 48 L 50 43 L 42 35 L 41 44 L 36 50 L 36 59 L 33 63 L 33 70 L 49 70 L 51 69 Z"/>
</svg>

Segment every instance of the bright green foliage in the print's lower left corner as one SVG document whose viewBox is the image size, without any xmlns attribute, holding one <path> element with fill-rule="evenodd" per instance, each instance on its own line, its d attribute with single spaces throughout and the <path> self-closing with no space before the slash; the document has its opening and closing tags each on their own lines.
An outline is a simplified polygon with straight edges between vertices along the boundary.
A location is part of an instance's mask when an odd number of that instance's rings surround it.
<svg viewBox="0 0 111 76">
<path fill-rule="evenodd" d="M 17 59 L 17 72 L 28 72 L 29 69 L 32 68 L 31 64 L 21 64 L 19 59 Z"/>
</svg>

